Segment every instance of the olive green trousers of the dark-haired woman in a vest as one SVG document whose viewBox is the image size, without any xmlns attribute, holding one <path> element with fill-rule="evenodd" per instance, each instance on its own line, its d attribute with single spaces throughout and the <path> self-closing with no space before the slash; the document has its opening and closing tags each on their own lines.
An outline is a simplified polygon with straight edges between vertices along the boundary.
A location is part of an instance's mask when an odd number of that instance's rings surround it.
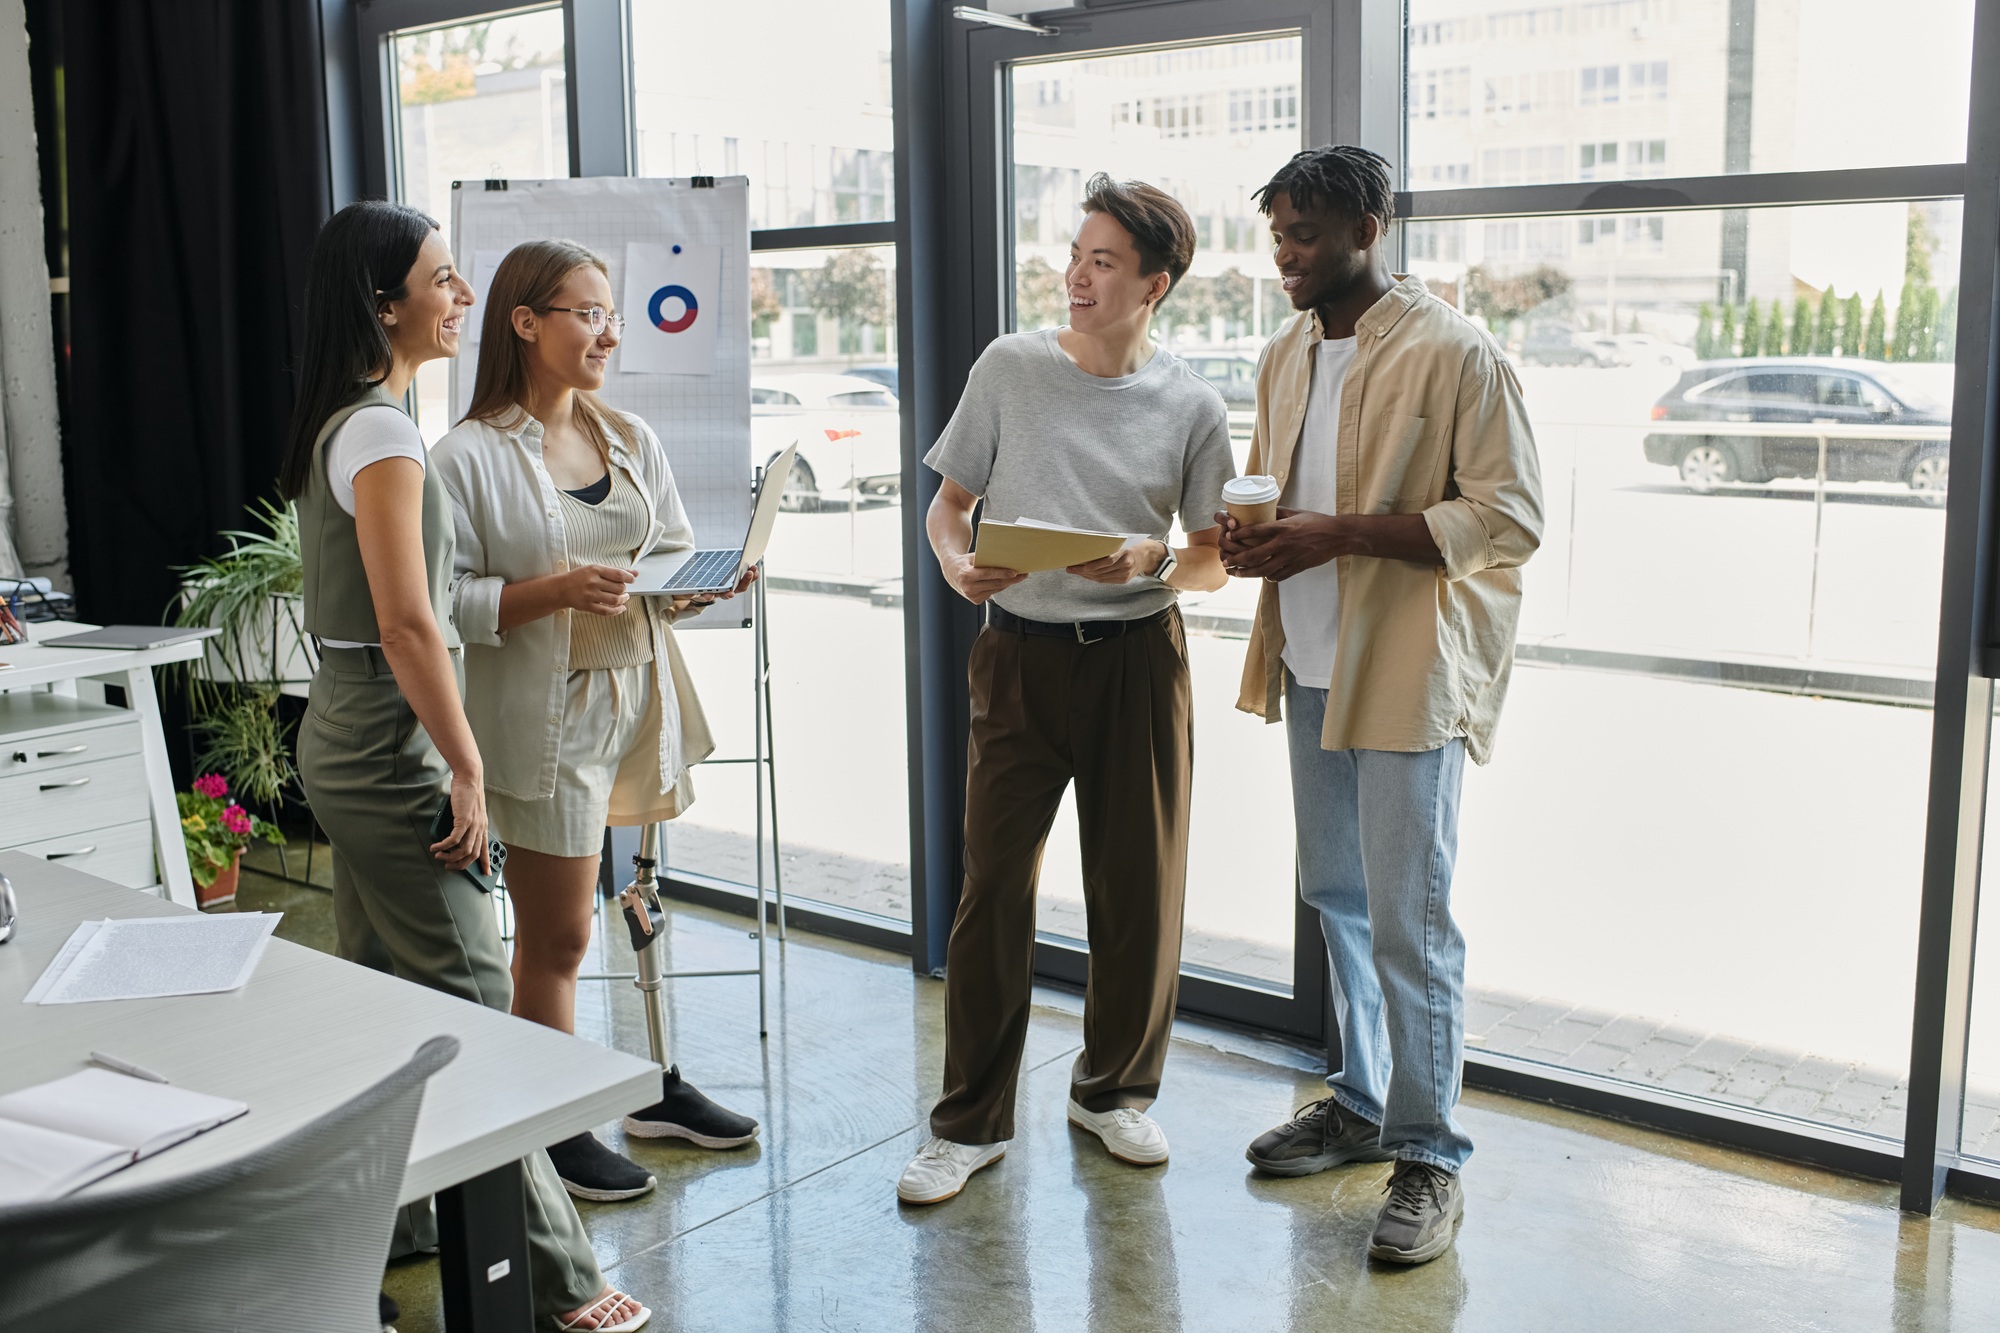
<svg viewBox="0 0 2000 1333">
<path fill-rule="evenodd" d="M 334 849 L 340 957 L 506 1013 L 514 979 L 492 899 L 430 855 L 430 821 L 450 795 L 452 773 L 380 648 L 320 650 L 298 733 L 298 769 Z M 548 1153 L 520 1165 L 534 1309 L 556 1315 L 588 1305 L 604 1291 L 604 1275 L 584 1223 Z M 436 1243 L 430 1201 L 406 1207 L 396 1219 L 394 1253 Z"/>
</svg>

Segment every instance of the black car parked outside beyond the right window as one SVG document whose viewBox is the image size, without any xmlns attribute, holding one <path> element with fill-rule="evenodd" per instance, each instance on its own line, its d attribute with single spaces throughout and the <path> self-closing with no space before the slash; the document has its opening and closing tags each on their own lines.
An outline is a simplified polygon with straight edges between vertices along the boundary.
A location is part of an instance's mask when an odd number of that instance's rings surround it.
<svg viewBox="0 0 2000 1333">
<path fill-rule="evenodd" d="M 1688 490 L 1776 476 L 1816 476 L 1818 434 L 1702 434 L 1694 422 L 1754 420 L 1824 424 L 1826 480 L 1904 482 L 1942 500 L 1946 440 L 1842 438 L 1840 426 L 1948 426 L 1950 410 L 1880 362 L 1750 356 L 1704 360 L 1652 404 L 1658 422 L 1690 422 L 1646 436 L 1646 462 L 1680 472 Z"/>
</svg>

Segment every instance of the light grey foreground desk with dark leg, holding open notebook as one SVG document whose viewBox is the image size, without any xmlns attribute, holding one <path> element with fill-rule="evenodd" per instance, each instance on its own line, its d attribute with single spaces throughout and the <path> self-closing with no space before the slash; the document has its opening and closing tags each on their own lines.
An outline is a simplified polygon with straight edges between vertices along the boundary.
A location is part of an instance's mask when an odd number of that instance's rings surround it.
<svg viewBox="0 0 2000 1333">
<path fill-rule="evenodd" d="M 178 1087 L 250 1103 L 250 1115 L 120 1171 L 120 1189 L 238 1157 L 330 1111 L 400 1067 L 430 1037 L 458 1059 L 424 1091 L 402 1203 L 438 1195 L 446 1327 L 528 1329 L 528 1249 L 518 1161 L 660 1099 L 660 1067 L 274 939 L 228 995 L 22 1005 L 76 923 L 188 909 L 0 853 L 20 895 L 0 945 L 0 1093 L 84 1069 L 90 1051 Z M 488 1281 L 502 1259 L 510 1273 Z"/>
</svg>

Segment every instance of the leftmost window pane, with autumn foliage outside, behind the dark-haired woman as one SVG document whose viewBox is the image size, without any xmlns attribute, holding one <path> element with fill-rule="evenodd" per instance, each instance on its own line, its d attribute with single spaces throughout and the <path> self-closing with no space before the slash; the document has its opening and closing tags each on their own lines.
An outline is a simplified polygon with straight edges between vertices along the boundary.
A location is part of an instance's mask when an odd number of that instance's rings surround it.
<svg viewBox="0 0 2000 1333">
<path fill-rule="evenodd" d="M 570 174 L 560 6 L 398 32 L 394 50 L 396 198 L 446 234 L 454 180 Z M 448 362 L 418 368 L 416 424 L 432 442 L 452 428 Z"/>
</svg>

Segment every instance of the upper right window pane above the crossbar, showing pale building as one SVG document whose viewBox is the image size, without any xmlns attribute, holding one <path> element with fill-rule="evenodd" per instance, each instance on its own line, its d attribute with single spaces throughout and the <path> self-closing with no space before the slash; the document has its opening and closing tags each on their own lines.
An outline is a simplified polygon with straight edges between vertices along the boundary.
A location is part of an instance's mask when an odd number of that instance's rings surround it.
<svg viewBox="0 0 2000 1333">
<path fill-rule="evenodd" d="M 1972 0 L 1410 0 L 1412 190 L 1962 162 Z"/>
</svg>

